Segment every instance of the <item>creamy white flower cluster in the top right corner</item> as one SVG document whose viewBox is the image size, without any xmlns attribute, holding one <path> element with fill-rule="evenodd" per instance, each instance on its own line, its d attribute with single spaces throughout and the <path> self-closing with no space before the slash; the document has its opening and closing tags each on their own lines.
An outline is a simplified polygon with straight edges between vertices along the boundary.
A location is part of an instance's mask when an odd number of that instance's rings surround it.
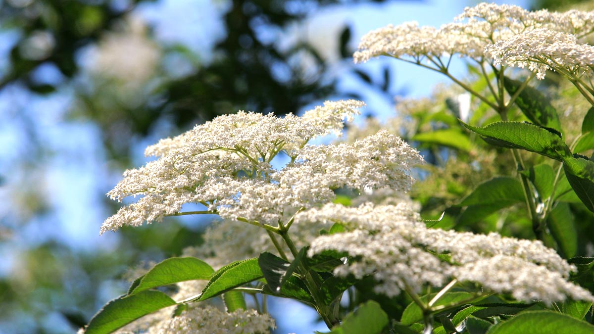
<svg viewBox="0 0 594 334">
<path fill-rule="evenodd" d="M 594 12 L 527 11 L 515 5 L 482 3 L 465 8 L 453 23 L 439 29 L 419 27 L 412 22 L 371 31 L 362 37 L 354 58 L 355 62 L 365 62 L 375 56 L 389 55 L 409 57 L 419 63 L 428 58 L 435 65 L 446 67 L 440 57 L 457 54 L 483 62 L 485 56 L 494 56 L 492 51 L 485 53 L 486 46 L 497 42 L 503 43 L 502 48 L 513 45 L 517 42 L 505 41 L 533 30 L 586 36 L 594 31 Z"/>
</svg>

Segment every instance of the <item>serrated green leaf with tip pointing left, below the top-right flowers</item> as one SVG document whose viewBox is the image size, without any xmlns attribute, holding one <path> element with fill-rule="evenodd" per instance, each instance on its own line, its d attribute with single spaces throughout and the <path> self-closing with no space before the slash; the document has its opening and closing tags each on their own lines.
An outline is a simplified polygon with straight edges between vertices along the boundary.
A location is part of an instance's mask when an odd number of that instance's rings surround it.
<svg viewBox="0 0 594 334">
<path fill-rule="evenodd" d="M 495 146 L 524 149 L 559 161 L 571 156 L 569 147 L 560 134 L 534 124 L 502 121 L 486 127 L 473 127 L 460 122 L 470 131 L 481 135 L 487 143 Z"/>
</svg>

